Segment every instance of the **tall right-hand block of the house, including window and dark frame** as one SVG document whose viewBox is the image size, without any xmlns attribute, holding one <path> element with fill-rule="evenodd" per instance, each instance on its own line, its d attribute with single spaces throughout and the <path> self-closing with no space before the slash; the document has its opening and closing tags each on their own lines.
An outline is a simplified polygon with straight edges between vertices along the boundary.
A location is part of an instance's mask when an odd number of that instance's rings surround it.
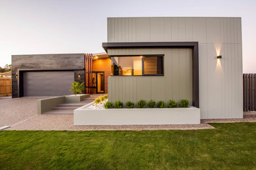
<svg viewBox="0 0 256 170">
<path fill-rule="evenodd" d="M 110 101 L 188 99 L 201 118 L 243 117 L 241 18 L 108 18 L 103 47 Z"/>
</svg>

